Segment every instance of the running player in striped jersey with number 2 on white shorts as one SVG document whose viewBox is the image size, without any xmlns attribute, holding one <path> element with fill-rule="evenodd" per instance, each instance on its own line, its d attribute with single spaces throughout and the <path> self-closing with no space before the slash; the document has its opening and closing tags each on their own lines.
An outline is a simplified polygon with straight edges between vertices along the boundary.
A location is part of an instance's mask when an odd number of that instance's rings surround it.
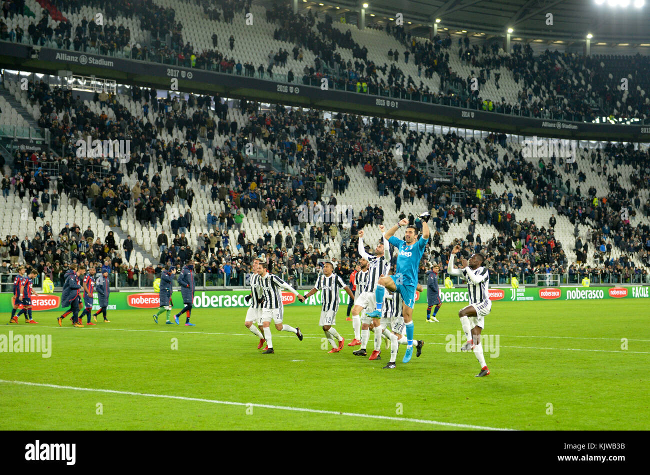
<svg viewBox="0 0 650 475">
<path fill-rule="evenodd" d="M 273 350 L 273 341 L 271 339 L 271 321 L 276 324 L 276 329 L 279 332 L 292 332 L 298 336 L 298 339 L 302 341 L 302 332 L 300 328 L 293 328 L 290 325 L 285 325 L 282 323 L 284 307 L 282 303 L 281 289 L 287 289 L 293 295 L 295 295 L 300 302 L 305 301 L 305 297 L 300 295 L 296 289 L 291 287 L 287 282 L 279 278 L 274 274 L 268 273 L 268 263 L 263 260 L 259 263 L 259 291 L 258 296 L 261 293 L 261 296 L 264 297 L 262 302 L 262 311 L 260 319 L 262 321 L 262 327 L 264 331 L 264 337 L 266 339 L 266 351 L 264 353 L 274 353 Z M 260 292 L 261 291 L 261 292 Z"/>
</svg>

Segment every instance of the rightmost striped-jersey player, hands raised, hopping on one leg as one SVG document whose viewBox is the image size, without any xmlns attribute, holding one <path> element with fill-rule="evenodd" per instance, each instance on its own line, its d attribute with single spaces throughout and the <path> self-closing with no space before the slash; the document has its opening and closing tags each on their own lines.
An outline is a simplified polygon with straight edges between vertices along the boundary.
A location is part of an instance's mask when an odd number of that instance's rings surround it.
<svg viewBox="0 0 650 475">
<path fill-rule="evenodd" d="M 462 269 L 454 269 L 454 254 L 459 252 L 460 245 L 454 246 L 449 256 L 447 273 L 450 275 L 462 277 L 467 281 L 467 293 L 469 293 L 469 305 L 458 311 L 460 324 L 465 332 L 465 344 L 461 347 L 462 351 L 473 350 L 478 363 L 481 365 L 481 371 L 476 376 L 487 376 L 489 369 L 486 365 L 486 359 L 483 355 L 480 334 L 485 327 L 485 317 L 492 310 L 492 301 L 489 299 L 487 286 L 489 284 L 489 273 L 483 267 L 485 256 L 480 252 L 475 252 L 469 258 L 469 261 L 461 259 Z"/>
</svg>

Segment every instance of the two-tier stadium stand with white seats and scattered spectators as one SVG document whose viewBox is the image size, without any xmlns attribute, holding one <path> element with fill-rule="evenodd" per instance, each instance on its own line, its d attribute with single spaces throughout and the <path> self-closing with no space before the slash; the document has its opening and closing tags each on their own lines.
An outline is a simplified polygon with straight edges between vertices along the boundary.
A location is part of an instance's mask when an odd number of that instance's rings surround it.
<svg viewBox="0 0 650 475">
<path fill-rule="evenodd" d="M 467 38 L 455 44 L 450 36 L 411 38 L 399 27 L 351 29 L 328 16 L 315 18 L 311 10 L 298 21 L 287 5 L 266 10 L 250 1 L 203 2 L 201 8 L 171 0 L 116 1 L 106 10 L 102 29 L 85 23 L 94 16 L 92 1 L 44 3 L 42 8 L 27 0 L 23 14 L 3 19 L 3 39 L 235 74 L 252 71 L 258 77 L 293 75 L 304 84 L 327 77 L 352 91 L 366 82 L 370 93 L 531 117 L 650 115 L 646 56 L 622 59 L 631 60 L 635 77 L 644 79 L 633 90 L 620 91 L 613 73 L 621 58 L 584 60 L 557 51 L 533 56 L 529 45 L 519 44 L 508 56 Z M 252 12 L 252 34 L 238 34 L 246 19 L 233 12 Z M 541 76 L 551 82 L 541 84 Z M 469 88 L 473 77 L 480 81 L 480 93 Z M 597 89 L 586 85 L 587 78 Z M 126 276 L 192 254 L 201 262 L 199 274 L 211 274 L 211 282 L 216 282 L 212 274 L 226 282 L 226 267 L 237 273 L 238 265 L 240 279 L 250 256 L 261 252 L 272 254 L 279 270 L 290 276 L 294 269 L 315 274 L 324 256 L 349 269 L 356 230 L 367 226 L 365 241 L 372 244 L 380 237 L 372 225 L 395 223 L 408 204 L 434 215 L 433 246 L 425 262 L 445 262 L 457 237 L 465 236 L 465 252 L 487 249 L 499 283 L 510 274 L 523 275 L 522 282 L 543 273 L 569 274 L 575 282 L 590 273 L 612 282 L 648 278 L 650 237 L 642 218 L 650 215 L 649 156 L 631 145 L 586 146 L 569 164 L 556 157 L 525 158 L 521 143 L 504 135 L 476 140 L 454 132 L 425 133 L 376 117 L 326 117 L 322 111 L 283 106 L 263 110 L 261 104 L 218 96 L 160 98 L 157 91 L 137 86 L 85 99 L 45 81 L 31 81 L 24 91 L 15 79 L 5 78 L 3 87 L 39 127 L 51 131 L 52 149 L 60 155 L 18 154 L 6 174 L 6 206 L 13 215 L 27 210 L 15 236 L 4 241 L 8 254 L 21 236 L 31 243 L 47 226 L 43 193 L 51 190 L 53 196 L 56 189 L 59 210 L 52 209 L 49 218 L 57 249 L 65 241 L 57 230 L 66 223 L 83 230 L 90 226 L 97 236 L 113 232 L 112 251 L 120 253 L 130 235 L 133 258 L 118 263 L 127 265 L 120 271 Z M 0 108 L 0 125 L 27 127 L 1 96 Z M 77 157 L 77 140 L 88 134 L 131 140 L 130 160 Z M 271 157 L 282 171 L 247 157 L 249 142 L 255 158 Z M 403 155 L 395 153 L 396 145 L 404 147 Z M 361 198 L 359 190 L 369 189 L 376 194 Z M 337 206 L 345 218 L 341 226 L 304 226 L 298 215 L 309 202 Z M 344 222 L 348 208 L 354 211 L 353 223 Z M 12 213 L 3 216 L 6 228 L 16 226 L 15 219 L 7 219 Z M 415 222 L 413 215 L 404 217 Z M 160 230 L 168 234 L 166 246 Z M 40 239 L 47 240 L 43 233 Z M 23 251 L 20 262 L 38 265 L 39 246 L 34 259 Z M 102 251 L 91 256 L 121 259 Z M 66 263 L 85 257 L 63 254 Z M 131 261 L 136 265 L 129 268 Z"/>
</svg>

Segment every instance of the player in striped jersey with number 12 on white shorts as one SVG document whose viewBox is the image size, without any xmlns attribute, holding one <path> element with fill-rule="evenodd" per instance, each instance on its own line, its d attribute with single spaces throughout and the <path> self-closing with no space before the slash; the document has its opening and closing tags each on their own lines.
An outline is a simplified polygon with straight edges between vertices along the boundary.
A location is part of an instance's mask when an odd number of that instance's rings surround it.
<svg viewBox="0 0 650 475">
<path fill-rule="evenodd" d="M 320 322 L 325 337 L 331 344 L 331 350 L 328 353 L 338 353 L 343 349 L 345 339 L 339 335 L 339 332 L 333 327 L 336 324 L 336 312 L 339 310 L 339 291 L 344 289 L 350 298 L 354 294 L 350 287 L 345 284 L 341 276 L 334 273 L 334 264 L 327 261 L 323 265 L 323 273 L 318 276 L 314 288 L 305 294 L 305 298 L 311 297 L 318 290 L 321 291 L 322 305 L 320 309 Z"/>
</svg>

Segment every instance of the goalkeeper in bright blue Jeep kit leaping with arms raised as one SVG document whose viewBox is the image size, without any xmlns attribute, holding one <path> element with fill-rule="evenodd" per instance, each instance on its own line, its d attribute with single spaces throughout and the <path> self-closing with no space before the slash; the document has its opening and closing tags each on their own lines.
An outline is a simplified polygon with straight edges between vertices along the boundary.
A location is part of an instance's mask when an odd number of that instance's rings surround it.
<svg viewBox="0 0 650 475">
<path fill-rule="evenodd" d="M 430 213 L 422 213 L 419 218 L 422 221 L 422 236 L 418 239 L 418 232 L 415 226 L 408 225 L 408 219 L 402 219 L 395 226 L 390 228 L 383 237 L 394 245 L 397 252 L 397 269 L 391 276 L 383 276 L 379 279 L 375 297 L 377 300 L 377 310 L 369 313 L 368 317 L 378 318 L 382 314 L 382 302 L 385 289 L 391 292 L 397 291 L 402 296 L 402 316 L 406 326 L 406 339 L 408 346 L 404 354 L 402 363 L 411 361 L 413 354 L 413 305 L 415 304 L 415 288 L 417 286 L 417 271 L 419 269 L 424 248 L 429 240 L 429 226 L 427 221 L 431 217 Z M 401 226 L 406 226 L 404 232 L 404 241 L 393 236 Z M 423 343 L 423 342 L 422 342 Z M 417 356 L 420 356 L 422 343 L 417 348 Z"/>
</svg>

